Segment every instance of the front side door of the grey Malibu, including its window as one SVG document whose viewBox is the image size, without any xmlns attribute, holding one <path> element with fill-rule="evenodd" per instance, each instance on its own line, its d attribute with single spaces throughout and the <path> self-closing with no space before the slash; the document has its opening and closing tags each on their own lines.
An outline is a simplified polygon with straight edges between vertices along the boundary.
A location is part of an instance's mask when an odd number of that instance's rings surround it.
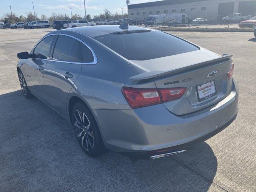
<svg viewBox="0 0 256 192">
<path fill-rule="evenodd" d="M 25 72 L 28 89 L 40 99 L 47 101 L 44 86 L 44 69 L 50 57 L 50 51 L 55 36 L 41 40 L 32 51 L 32 58 L 26 60 Z"/>
</svg>

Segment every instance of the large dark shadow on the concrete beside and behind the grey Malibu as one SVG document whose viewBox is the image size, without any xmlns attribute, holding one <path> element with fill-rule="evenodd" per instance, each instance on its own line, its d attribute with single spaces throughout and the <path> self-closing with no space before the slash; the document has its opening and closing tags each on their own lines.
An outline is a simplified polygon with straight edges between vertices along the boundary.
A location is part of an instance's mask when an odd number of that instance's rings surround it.
<svg viewBox="0 0 256 192">
<path fill-rule="evenodd" d="M 72 126 L 40 100 L 28 100 L 18 90 L 0 95 L 0 109 L 1 191 L 219 190 L 212 184 L 217 159 L 206 142 L 135 163 L 111 151 L 91 158 Z"/>
</svg>

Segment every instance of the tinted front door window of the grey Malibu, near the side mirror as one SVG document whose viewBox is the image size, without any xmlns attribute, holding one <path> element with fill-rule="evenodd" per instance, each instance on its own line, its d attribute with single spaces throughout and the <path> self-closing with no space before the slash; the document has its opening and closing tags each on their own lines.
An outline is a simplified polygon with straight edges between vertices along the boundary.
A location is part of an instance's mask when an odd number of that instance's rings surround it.
<svg viewBox="0 0 256 192">
<path fill-rule="evenodd" d="M 37 46 L 34 48 L 34 57 L 39 59 L 49 59 L 50 57 L 50 48 L 55 36 L 51 35 L 44 38 Z"/>
</svg>

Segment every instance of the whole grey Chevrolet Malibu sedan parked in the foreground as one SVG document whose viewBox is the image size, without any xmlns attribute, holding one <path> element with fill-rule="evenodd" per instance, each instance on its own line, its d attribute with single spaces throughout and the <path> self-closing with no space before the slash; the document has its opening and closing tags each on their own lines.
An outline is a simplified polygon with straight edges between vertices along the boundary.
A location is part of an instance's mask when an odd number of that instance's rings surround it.
<svg viewBox="0 0 256 192">
<path fill-rule="evenodd" d="M 70 28 L 17 56 L 24 96 L 67 119 L 92 157 L 105 149 L 132 160 L 184 152 L 238 113 L 232 55 L 158 30 Z"/>
</svg>

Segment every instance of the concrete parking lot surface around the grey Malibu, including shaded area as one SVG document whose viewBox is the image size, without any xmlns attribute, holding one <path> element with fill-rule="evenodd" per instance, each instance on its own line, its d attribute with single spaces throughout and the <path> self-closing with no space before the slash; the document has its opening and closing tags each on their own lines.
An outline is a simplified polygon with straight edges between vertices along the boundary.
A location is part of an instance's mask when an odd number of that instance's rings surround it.
<svg viewBox="0 0 256 192">
<path fill-rule="evenodd" d="M 52 29 L 0 29 L 0 191 L 256 191 L 256 38 L 243 32 L 172 32 L 218 54 L 234 54 L 240 111 L 191 150 L 156 160 L 114 152 L 86 156 L 72 126 L 20 90 L 16 54 Z"/>
</svg>

